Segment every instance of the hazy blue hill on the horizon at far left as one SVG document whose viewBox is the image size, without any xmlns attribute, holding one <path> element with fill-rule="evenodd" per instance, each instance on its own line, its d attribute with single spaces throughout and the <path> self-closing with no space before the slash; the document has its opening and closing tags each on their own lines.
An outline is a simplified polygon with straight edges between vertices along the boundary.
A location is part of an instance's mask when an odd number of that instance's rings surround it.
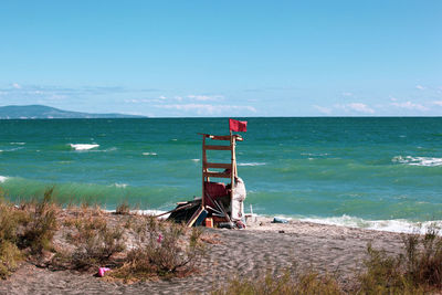
<svg viewBox="0 0 442 295">
<path fill-rule="evenodd" d="M 10 105 L 0 107 L 0 119 L 66 119 L 66 118 L 144 118 L 124 114 L 91 114 L 63 110 L 44 105 Z"/>
</svg>

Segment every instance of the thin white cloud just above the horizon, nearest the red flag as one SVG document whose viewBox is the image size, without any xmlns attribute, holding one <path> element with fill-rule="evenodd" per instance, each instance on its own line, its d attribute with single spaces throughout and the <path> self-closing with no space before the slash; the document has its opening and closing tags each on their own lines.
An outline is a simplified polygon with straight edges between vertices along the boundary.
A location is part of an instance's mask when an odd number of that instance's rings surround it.
<svg viewBox="0 0 442 295">
<path fill-rule="evenodd" d="M 209 105 L 209 104 L 169 104 L 169 105 L 155 105 L 158 108 L 176 109 L 183 112 L 194 112 L 197 115 L 220 115 L 227 112 L 252 112 L 256 113 L 253 106 L 238 106 L 238 105 Z"/>
</svg>

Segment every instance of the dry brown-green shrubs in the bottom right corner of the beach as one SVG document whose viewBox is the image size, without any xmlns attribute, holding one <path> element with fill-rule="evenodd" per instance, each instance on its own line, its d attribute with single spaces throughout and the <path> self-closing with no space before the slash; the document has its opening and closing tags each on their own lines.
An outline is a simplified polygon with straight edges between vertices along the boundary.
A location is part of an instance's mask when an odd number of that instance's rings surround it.
<svg viewBox="0 0 442 295">
<path fill-rule="evenodd" d="M 392 256 L 368 245 L 361 294 L 428 294 L 442 288 L 442 238 L 430 226 L 424 235 L 403 235 L 403 252 Z"/>
</svg>

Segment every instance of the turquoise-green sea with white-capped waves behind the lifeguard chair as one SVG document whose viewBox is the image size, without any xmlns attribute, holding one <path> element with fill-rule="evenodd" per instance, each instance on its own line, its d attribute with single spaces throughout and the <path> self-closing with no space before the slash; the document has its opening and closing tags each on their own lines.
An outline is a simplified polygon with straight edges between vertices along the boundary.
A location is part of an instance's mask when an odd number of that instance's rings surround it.
<svg viewBox="0 0 442 295">
<path fill-rule="evenodd" d="M 397 232 L 442 224 L 442 117 L 240 119 L 245 212 Z M 201 196 L 199 133 L 228 135 L 228 118 L 0 120 L 0 194 L 19 203 L 53 188 L 64 204 L 168 211 Z"/>
</svg>

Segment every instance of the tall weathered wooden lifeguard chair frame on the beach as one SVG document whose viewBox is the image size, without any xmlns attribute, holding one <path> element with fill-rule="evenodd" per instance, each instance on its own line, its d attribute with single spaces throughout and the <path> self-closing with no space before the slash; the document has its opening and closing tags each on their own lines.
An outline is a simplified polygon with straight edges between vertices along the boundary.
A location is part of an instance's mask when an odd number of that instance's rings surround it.
<svg viewBox="0 0 442 295">
<path fill-rule="evenodd" d="M 187 223 L 188 226 L 192 226 L 193 223 L 200 219 L 200 215 L 209 211 L 218 211 L 222 213 L 225 218 L 225 222 L 231 222 L 231 217 L 229 215 L 227 209 L 217 200 L 213 200 L 215 196 L 208 196 L 207 186 L 211 182 L 211 178 L 224 178 L 230 179 L 230 207 L 232 207 L 232 199 L 234 193 L 234 181 L 235 177 L 238 177 L 236 169 L 236 155 L 235 155 L 235 145 L 236 141 L 242 141 L 243 138 L 240 135 L 232 134 L 230 135 L 210 135 L 210 134 L 199 134 L 202 136 L 202 194 L 201 194 L 201 208 L 194 212 L 192 218 Z M 217 145 L 212 144 L 213 141 L 229 141 L 229 145 Z M 212 162 L 208 160 L 208 150 L 222 150 L 224 152 L 230 151 L 230 162 Z M 220 170 L 210 170 L 210 169 L 224 169 Z M 213 197 L 213 199 L 212 199 Z M 209 200 L 209 201 L 208 201 Z M 215 208 L 212 206 L 214 204 Z M 203 218 L 206 218 L 206 215 Z"/>
</svg>

